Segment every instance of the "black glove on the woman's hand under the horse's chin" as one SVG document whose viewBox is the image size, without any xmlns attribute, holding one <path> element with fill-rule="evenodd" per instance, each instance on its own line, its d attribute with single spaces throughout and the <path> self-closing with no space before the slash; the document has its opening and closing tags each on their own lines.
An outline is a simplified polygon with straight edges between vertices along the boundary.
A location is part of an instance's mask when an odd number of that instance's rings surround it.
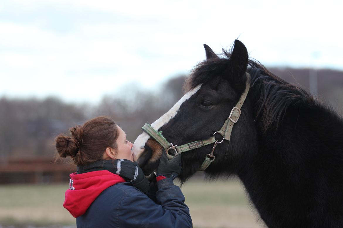
<svg viewBox="0 0 343 228">
<path fill-rule="evenodd" d="M 159 159 L 159 165 L 157 168 L 157 174 L 165 176 L 167 178 L 175 179 L 181 172 L 181 155 L 175 156 L 173 159 L 168 160 L 167 153 L 162 152 L 162 156 Z"/>
</svg>

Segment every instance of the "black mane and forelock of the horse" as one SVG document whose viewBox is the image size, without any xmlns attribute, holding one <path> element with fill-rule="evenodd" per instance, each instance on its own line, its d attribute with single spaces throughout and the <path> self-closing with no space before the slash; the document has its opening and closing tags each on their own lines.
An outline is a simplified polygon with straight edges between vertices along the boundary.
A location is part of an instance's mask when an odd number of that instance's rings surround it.
<svg viewBox="0 0 343 228">
<path fill-rule="evenodd" d="M 210 58 L 200 62 L 186 79 L 184 91 L 188 92 L 201 83 L 206 83 L 211 77 L 218 76 L 229 64 L 230 52 L 223 49 L 219 58 Z M 249 58 L 247 72 L 250 73 L 250 88 L 258 91 L 256 117 L 261 118 L 262 131 L 266 132 L 271 126 L 277 126 L 282 121 L 287 108 L 305 104 L 313 104 L 314 98 L 300 86 L 290 84 L 277 77 L 256 59 Z"/>
</svg>

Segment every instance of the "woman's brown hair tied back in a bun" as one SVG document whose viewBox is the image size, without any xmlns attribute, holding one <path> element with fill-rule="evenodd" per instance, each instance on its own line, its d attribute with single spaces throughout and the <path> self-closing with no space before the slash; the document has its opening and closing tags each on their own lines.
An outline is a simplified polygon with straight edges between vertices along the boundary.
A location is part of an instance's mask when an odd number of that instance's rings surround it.
<svg viewBox="0 0 343 228">
<path fill-rule="evenodd" d="M 76 125 L 70 131 L 71 137 L 58 135 L 55 146 L 60 157 L 69 156 L 76 165 L 102 160 L 107 147 L 117 148 L 119 131 L 110 117 L 95 117 L 83 126 Z"/>
</svg>

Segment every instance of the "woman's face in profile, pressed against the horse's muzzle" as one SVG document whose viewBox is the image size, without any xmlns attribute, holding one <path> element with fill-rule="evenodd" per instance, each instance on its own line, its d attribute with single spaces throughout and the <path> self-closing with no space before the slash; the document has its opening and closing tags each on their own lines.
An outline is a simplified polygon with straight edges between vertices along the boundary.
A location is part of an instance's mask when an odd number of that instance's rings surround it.
<svg viewBox="0 0 343 228">
<path fill-rule="evenodd" d="M 127 159 L 133 161 L 133 153 L 131 151 L 133 144 L 126 139 L 125 132 L 117 126 L 119 136 L 117 138 L 117 154 L 116 159 Z"/>
</svg>

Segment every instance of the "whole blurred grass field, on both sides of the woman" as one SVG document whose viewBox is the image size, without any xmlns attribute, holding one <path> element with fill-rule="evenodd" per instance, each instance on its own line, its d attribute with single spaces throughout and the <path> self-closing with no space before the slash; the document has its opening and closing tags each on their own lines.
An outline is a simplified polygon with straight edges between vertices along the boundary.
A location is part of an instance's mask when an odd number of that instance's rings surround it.
<svg viewBox="0 0 343 228">
<path fill-rule="evenodd" d="M 0 186 L 0 227 L 33 224 L 37 227 L 75 226 L 75 218 L 63 208 L 69 184 Z M 190 208 L 193 226 L 198 228 L 258 228 L 258 216 L 249 206 L 236 180 L 204 182 L 190 180 L 181 187 Z M 52 225 L 60 226 L 52 226 Z"/>
</svg>

